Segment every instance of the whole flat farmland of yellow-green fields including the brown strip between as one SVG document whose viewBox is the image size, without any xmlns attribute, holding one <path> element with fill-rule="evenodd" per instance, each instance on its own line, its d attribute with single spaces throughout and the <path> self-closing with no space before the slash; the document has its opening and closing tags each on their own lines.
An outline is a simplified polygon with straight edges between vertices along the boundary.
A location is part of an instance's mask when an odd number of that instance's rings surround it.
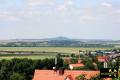
<svg viewBox="0 0 120 80">
<path fill-rule="evenodd" d="M 55 57 L 56 54 L 78 54 L 79 50 L 110 50 L 112 48 L 81 48 L 81 47 L 0 47 L 0 59 L 29 58 L 44 59 Z"/>
</svg>

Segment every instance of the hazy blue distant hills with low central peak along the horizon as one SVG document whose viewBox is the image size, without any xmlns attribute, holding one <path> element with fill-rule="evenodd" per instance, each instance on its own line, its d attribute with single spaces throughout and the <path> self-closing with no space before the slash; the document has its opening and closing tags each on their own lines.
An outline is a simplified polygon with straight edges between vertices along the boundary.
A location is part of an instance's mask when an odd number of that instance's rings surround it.
<svg viewBox="0 0 120 80">
<path fill-rule="evenodd" d="M 113 41 L 102 39 L 71 39 L 67 37 L 0 40 L 1 47 L 113 47 L 116 44 L 120 44 L 120 40 Z"/>
</svg>

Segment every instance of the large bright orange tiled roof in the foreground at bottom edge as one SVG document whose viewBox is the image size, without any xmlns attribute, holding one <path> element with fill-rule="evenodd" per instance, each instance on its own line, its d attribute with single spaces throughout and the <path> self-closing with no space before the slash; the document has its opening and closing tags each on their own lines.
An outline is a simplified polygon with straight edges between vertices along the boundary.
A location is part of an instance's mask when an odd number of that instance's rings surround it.
<svg viewBox="0 0 120 80">
<path fill-rule="evenodd" d="M 68 75 L 75 80 L 76 76 L 81 74 L 85 74 L 85 77 L 89 79 L 99 73 L 99 71 L 65 70 L 64 75 L 59 75 L 54 70 L 35 70 L 33 80 L 64 80 Z"/>
</svg>

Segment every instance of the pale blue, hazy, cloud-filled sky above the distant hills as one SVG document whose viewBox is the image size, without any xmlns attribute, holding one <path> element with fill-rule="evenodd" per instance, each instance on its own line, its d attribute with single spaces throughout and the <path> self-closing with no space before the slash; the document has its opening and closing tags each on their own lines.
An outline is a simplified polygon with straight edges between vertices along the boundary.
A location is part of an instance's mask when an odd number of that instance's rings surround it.
<svg viewBox="0 0 120 80">
<path fill-rule="evenodd" d="M 0 0 L 0 39 L 120 40 L 120 0 Z"/>
</svg>

